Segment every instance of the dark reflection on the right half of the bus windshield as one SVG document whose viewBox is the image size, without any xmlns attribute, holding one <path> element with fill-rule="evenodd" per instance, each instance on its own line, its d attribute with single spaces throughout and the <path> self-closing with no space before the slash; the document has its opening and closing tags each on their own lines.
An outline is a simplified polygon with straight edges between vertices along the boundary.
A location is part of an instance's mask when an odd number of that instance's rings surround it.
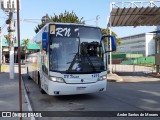
<svg viewBox="0 0 160 120">
<path fill-rule="evenodd" d="M 68 72 L 99 72 L 104 70 L 101 47 L 98 42 L 82 42 L 81 53 L 76 54 Z"/>
</svg>

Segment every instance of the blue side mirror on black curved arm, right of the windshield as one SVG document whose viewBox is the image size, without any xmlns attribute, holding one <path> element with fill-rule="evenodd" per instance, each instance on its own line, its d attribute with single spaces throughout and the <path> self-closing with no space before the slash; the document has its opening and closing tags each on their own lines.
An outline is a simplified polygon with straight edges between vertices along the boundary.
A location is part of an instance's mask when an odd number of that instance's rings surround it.
<svg viewBox="0 0 160 120">
<path fill-rule="evenodd" d="M 116 37 L 115 36 L 111 36 L 111 35 L 104 35 L 104 36 L 102 36 L 102 38 L 101 38 L 101 41 L 103 40 L 105 40 L 105 38 L 110 38 L 111 39 L 111 45 L 112 45 L 112 48 L 111 48 L 111 51 L 105 51 L 105 53 L 106 52 L 112 52 L 112 51 L 116 51 Z M 109 40 L 109 39 L 107 39 L 107 40 Z M 104 42 L 105 43 L 105 42 Z"/>
</svg>

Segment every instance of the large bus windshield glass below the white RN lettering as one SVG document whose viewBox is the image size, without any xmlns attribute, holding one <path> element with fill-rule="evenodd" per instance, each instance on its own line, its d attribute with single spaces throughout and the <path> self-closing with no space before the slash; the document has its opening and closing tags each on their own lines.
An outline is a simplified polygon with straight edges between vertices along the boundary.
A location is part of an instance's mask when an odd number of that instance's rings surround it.
<svg viewBox="0 0 160 120">
<path fill-rule="evenodd" d="M 100 29 L 92 27 L 79 27 L 77 37 L 52 36 L 50 71 L 78 74 L 104 71 L 101 36 Z"/>
</svg>

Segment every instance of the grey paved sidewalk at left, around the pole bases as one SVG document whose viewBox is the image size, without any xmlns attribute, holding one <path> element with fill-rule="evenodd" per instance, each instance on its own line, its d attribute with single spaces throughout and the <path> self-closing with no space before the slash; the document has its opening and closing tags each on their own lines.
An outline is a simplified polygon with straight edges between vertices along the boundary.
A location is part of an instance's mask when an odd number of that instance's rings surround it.
<svg viewBox="0 0 160 120">
<path fill-rule="evenodd" d="M 15 67 L 14 79 L 9 78 L 9 67 L 5 66 L 5 71 L 0 73 L 0 111 L 19 111 L 19 79 L 18 69 Z M 22 110 L 28 111 L 27 101 L 24 95 L 24 86 L 22 83 Z M 3 118 L 9 119 L 9 118 Z M 17 120 L 19 118 L 10 118 Z M 23 118 L 30 120 L 30 118 Z"/>
</svg>

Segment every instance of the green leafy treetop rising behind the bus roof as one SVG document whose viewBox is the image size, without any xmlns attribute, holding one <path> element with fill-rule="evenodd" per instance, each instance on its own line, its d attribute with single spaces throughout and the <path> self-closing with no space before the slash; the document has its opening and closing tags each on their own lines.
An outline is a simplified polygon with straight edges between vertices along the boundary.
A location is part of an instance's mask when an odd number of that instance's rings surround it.
<svg viewBox="0 0 160 120">
<path fill-rule="evenodd" d="M 48 16 L 48 14 L 46 14 Z M 48 22 L 61 22 L 61 23 L 79 23 L 85 24 L 85 21 L 82 18 L 79 18 L 73 11 L 64 13 L 60 13 L 59 15 L 54 14 L 54 16 L 50 17 Z M 35 28 L 35 32 L 37 33 L 45 24 L 41 23 Z"/>
</svg>

